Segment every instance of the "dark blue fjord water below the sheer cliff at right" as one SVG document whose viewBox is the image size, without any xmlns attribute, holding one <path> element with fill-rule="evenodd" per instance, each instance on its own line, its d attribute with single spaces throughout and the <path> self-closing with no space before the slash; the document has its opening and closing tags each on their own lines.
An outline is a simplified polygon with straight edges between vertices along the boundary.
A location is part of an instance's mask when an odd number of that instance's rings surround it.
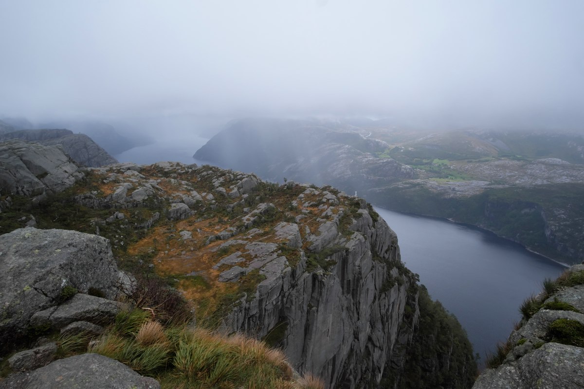
<svg viewBox="0 0 584 389">
<path fill-rule="evenodd" d="M 467 330 L 485 360 L 505 342 L 519 307 L 565 267 L 495 234 L 448 220 L 375 208 L 397 233 L 402 261 Z"/>
</svg>

